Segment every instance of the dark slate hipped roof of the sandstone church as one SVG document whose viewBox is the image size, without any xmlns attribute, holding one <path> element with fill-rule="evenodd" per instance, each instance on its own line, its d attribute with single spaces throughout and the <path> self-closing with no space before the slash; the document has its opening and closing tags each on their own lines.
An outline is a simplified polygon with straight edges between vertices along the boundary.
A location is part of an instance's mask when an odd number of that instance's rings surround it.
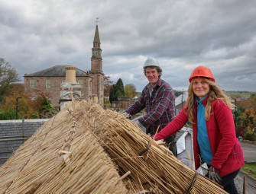
<svg viewBox="0 0 256 194">
<path fill-rule="evenodd" d="M 44 69 L 40 72 L 35 72 L 31 74 L 25 74 L 24 77 L 66 77 L 66 67 L 67 65 L 56 65 L 51 68 Z M 89 76 L 83 70 L 76 68 L 76 77 Z"/>
</svg>

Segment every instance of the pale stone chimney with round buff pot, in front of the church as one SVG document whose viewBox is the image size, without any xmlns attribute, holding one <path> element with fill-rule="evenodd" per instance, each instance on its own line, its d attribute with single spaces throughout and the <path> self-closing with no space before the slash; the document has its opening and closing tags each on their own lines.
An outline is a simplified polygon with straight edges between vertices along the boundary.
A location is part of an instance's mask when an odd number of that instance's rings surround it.
<svg viewBox="0 0 256 194">
<path fill-rule="evenodd" d="M 74 100 L 81 97 L 81 85 L 76 82 L 76 67 L 66 66 L 66 81 L 60 84 L 60 110 L 63 110 L 72 101 L 71 91 Z"/>
</svg>

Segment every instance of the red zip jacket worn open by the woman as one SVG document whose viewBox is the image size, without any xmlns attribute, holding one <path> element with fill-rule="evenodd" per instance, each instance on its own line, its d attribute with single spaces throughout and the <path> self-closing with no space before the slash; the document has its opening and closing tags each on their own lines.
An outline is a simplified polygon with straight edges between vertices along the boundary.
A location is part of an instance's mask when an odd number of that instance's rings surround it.
<svg viewBox="0 0 256 194">
<path fill-rule="evenodd" d="M 206 107 L 208 97 L 203 100 Z M 196 169 L 200 166 L 199 145 L 197 142 L 197 102 L 195 103 L 195 119 L 193 124 L 193 151 Z M 188 116 L 184 109 L 164 129 L 157 133 L 156 140 L 166 139 L 179 131 L 187 122 Z M 219 170 L 221 177 L 238 170 L 245 164 L 245 157 L 238 139 L 235 137 L 235 126 L 232 110 L 222 100 L 212 103 L 211 117 L 206 120 L 209 143 L 212 149 L 212 167 Z"/>
</svg>

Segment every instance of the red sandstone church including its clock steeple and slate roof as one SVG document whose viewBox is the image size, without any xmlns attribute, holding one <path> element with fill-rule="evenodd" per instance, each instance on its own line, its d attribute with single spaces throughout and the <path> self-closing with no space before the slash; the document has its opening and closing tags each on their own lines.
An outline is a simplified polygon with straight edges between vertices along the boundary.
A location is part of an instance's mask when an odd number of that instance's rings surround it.
<svg viewBox="0 0 256 194">
<path fill-rule="evenodd" d="M 60 107 L 60 84 L 65 81 L 67 65 L 56 65 L 51 68 L 44 69 L 40 72 L 24 75 L 24 91 L 35 99 L 38 94 L 44 93 L 53 107 Z M 100 48 L 99 30 L 96 26 L 92 58 L 91 70 L 84 72 L 76 68 L 76 82 L 81 85 L 82 98 L 98 97 L 99 104 L 103 107 L 104 101 L 104 74 L 102 72 L 102 49 Z"/>
</svg>

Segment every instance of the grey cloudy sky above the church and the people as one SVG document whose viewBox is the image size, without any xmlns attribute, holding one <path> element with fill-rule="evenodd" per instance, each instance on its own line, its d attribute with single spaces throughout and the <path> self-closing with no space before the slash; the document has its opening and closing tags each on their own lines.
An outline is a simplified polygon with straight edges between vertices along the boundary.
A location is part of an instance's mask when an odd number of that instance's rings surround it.
<svg viewBox="0 0 256 194">
<path fill-rule="evenodd" d="M 22 80 L 54 65 L 89 70 L 96 17 L 112 81 L 142 91 L 153 56 L 173 89 L 205 65 L 225 91 L 256 91 L 254 0 L 0 0 L 0 58 Z"/>
</svg>

